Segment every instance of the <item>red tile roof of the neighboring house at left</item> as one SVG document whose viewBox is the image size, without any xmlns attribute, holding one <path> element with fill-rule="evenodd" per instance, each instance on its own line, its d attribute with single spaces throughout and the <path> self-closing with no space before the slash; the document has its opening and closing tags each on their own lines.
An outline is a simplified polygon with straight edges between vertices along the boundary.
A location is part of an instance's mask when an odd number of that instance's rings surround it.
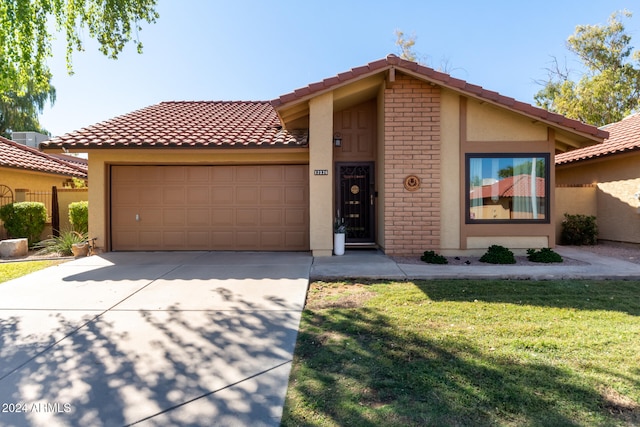
<svg viewBox="0 0 640 427">
<path fill-rule="evenodd" d="M 0 137 L 0 167 L 87 178 L 87 166 Z M 1 184 L 1 182 L 0 182 Z"/>
</svg>

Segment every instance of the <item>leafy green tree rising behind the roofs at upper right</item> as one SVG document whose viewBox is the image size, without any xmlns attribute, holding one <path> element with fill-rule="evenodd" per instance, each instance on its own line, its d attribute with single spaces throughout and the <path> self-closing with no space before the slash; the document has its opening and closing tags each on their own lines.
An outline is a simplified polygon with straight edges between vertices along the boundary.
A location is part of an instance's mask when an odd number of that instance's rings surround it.
<svg viewBox="0 0 640 427">
<path fill-rule="evenodd" d="M 632 14 L 615 12 L 605 26 L 576 27 L 567 48 L 578 56 L 585 72 L 573 81 L 569 70 L 562 70 L 554 58 L 549 80 L 534 96 L 538 106 L 596 126 L 620 121 L 638 108 L 640 53 L 630 46 L 621 16 Z"/>
</svg>

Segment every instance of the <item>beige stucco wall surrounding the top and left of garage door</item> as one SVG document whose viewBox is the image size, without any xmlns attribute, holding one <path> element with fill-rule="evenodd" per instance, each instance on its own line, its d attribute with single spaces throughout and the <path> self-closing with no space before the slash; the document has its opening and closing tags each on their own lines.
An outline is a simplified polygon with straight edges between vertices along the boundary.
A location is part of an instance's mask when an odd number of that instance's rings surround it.
<svg viewBox="0 0 640 427">
<path fill-rule="evenodd" d="M 269 149 L 266 156 L 261 149 L 100 149 L 89 151 L 89 236 L 97 238 L 95 244 L 108 249 L 108 190 L 110 164 L 306 164 L 309 153 L 306 149 Z"/>
</svg>

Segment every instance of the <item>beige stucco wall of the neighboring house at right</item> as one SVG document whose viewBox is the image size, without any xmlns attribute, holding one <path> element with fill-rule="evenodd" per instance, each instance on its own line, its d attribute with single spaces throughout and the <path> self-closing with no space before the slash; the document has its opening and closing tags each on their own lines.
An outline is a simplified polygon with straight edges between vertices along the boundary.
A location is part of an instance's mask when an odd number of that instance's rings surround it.
<svg viewBox="0 0 640 427">
<path fill-rule="evenodd" d="M 620 154 L 557 168 L 557 183 L 595 184 L 598 238 L 640 243 L 640 154 Z"/>
</svg>

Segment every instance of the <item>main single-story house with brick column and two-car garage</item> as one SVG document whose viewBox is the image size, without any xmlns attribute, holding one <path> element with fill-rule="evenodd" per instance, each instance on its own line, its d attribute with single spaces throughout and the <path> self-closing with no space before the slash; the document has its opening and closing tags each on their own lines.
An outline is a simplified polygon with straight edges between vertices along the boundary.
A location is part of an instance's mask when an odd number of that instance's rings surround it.
<svg viewBox="0 0 640 427">
<path fill-rule="evenodd" d="M 163 102 L 41 147 L 89 153 L 108 251 L 325 256 L 338 217 L 348 245 L 419 255 L 553 247 L 554 155 L 607 135 L 390 55 L 270 102 Z M 499 201 L 517 214 L 479 218 L 494 202 L 474 186 L 510 173 L 525 185 Z"/>
</svg>

